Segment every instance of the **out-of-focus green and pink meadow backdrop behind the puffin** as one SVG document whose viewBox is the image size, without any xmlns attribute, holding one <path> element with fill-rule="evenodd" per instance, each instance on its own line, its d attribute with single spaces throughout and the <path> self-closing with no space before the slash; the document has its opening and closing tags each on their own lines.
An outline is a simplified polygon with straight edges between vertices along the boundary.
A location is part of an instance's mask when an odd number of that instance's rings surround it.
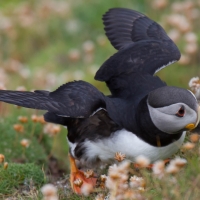
<svg viewBox="0 0 200 200">
<path fill-rule="evenodd" d="M 85 80 L 109 94 L 93 77 L 116 52 L 101 20 L 113 7 L 145 13 L 180 48 L 181 60 L 158 74 L 168 85 L 188 88 L 200 75 L 198 0 L 1 0 L 0 89 L 52 91 Z M 0 153 L 7 161 L 45 165 L 51 174 L 68 169 L 66 129 L 45 124 L 34 110 L 0 103 L 0 113 Z"/>
</svg>

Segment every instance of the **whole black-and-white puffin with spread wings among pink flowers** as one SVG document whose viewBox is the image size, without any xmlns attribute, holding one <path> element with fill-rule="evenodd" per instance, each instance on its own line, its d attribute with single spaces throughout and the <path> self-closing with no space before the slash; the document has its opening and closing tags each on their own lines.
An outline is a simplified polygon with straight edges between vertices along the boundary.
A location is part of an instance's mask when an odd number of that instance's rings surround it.
<svg viewBox="0 0 200 200">
<path fill-rule="evenodd" d="M 106 96 L 88 82 L 68 82 L 53 92 L 0 90 L 0 101 L 45 110 L 47 122 L 66 126 L 70 182 L 81 194 L 85 177 L 76 160 L 89 167 L 113 162 L 116 152 L 135 162 L 167 159 L 181 147 L 186 131 L 199 126 L 200 107 L 187 89 L 167 86 L 155 74 L 180 59 L 164 29 L 144 14 L 112 8 L 103 15 L 105 34 L 117 52 L 96 72 Z"/>
</svg>

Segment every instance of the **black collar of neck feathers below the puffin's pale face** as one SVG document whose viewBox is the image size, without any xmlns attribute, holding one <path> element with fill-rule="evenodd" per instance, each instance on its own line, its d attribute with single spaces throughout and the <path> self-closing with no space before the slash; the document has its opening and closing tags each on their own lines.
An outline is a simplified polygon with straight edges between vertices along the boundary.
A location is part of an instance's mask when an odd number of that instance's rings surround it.
<svg viewBox="0 0 200 200">
<path fill-rule="evenodd" d="M 148 96 L 141 100 L 136 112 L 136 121 L 140 129 L 138 137 L 153 146 L 167 146 L 178 140 L 181 137 L 182 132 L 177 134 L 168 134 L 162 132 L 154 125 L 149 114 L 147 98 Z"/>
</svg>

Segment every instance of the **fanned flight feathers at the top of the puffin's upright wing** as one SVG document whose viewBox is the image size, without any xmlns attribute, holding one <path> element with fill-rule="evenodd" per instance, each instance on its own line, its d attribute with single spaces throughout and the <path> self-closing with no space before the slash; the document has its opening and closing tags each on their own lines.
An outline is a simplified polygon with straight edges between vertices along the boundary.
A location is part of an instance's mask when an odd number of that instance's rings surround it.
<svg viewBox="0 0 200 200">
<path fill-rule="evenodd" d="M 106 35 L 117 50 L 141 40 L 171 41 L 159 24 L 134 10 L 113 8 L 102 19 Z"/>
</svg>

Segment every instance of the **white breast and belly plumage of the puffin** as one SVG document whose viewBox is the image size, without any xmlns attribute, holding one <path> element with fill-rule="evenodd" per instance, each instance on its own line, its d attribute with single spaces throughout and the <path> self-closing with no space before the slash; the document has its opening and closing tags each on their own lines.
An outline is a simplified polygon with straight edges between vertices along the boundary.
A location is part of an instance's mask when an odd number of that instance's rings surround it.
<svg viewBox="0 0 200 200">
<path fill-rule="evenodd" d="M 134 162 L 135 158 L 139 155 L 143 155 L 154 162 L 159 159 L 169 158 L 176 153 L 181 147 L 186 132 L 182 134 L 179 140 L 164 146 L 154 147 L 138 138 L 133 133 L 122 129 L 116 131 L 112 137 L 106 139 L 99 139 L 95 142 L 86 140 L 84 147 L 84 157 L 82 161 L 92 163 L 96 158 L 102 162 L 109 162 L 114 159 L 116 152 L 121 152 L 126 155 L 126 158 Z M 73 146 L 74 149 L 74 146 Z"/>
</svg>

